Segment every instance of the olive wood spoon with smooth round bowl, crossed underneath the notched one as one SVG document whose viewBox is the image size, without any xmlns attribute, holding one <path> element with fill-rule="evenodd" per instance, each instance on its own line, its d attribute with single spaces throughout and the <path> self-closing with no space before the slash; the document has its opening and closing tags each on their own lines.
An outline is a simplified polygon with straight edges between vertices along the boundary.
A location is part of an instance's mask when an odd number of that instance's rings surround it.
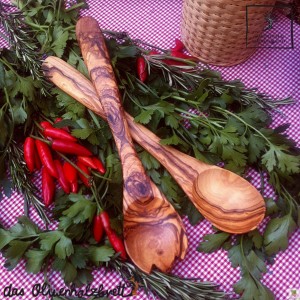
<svg viewBox="0 0 300 300">
<path fill-rule="evenodd" d="M 79 71 L 53 56 L 45 60 L 43 68 L 57 87 L 106 119 L 92 83 Z M 258 226 L 265 215 L 265 203 L 249 182 L 230 171 L 206 165 L 170 146 L 161 145 L 155 134 L 125 114 L 133 139 L 168 170 L 215 227 L 241 234 Z"/>
</svg>

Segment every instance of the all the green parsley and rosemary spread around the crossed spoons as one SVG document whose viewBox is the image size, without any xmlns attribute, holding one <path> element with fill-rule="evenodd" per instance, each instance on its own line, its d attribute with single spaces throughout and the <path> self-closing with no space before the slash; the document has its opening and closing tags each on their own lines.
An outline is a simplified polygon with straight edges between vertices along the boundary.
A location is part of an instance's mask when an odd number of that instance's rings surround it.
<svg viewBox="0 0 300 300">
<path fill-rule="evenodd" d="M 91 280 L 91 268 L 106 262 L 115 270 L 125 268 L 124 276 L 132 276 L 134 272 L 140 278 L 138 271 L 130 271 L 131 266 L 118 263 L 107 241 L 95 245 L 89 233 L 96 209 L 95 195 L 109 211 L 114 229 L 122 233 L 122 171 L 111 132 L 103 120 L 70 96 L 55 87 L 45 88 L 40 69 L 44 54 L 56 55 L 88 76 L 74 31 L 78 9 L 85 3 L 77 2 L 67 9 L 58 0 L 17 1 L 16 4 L 24 16 L 24 19 L 20 17 L 24 34 L 14 31 L 15 25 L 11 23 L 11 30 L 7 31 L 18 38 L 11 38 L 12 49 L 2 51 L 0 58 L 0 124 L 7 128 L 5 133 L 0 133 L 1 175 L 6 178 L 1 181 L 2 185 L 7 187 L 10 178 L 4 172 L 7 150 L 16 141 L 22 142 L 19 137 L 34 130 L 32 120 L 53 120 L 58 116 L 64 119 L 61 126 L 69 126 L 74 136 L 103 158 L 108 172 L 105 178 L 95 178 L 97 189 L 93 188 L 93 193 L 83 188 L 77 196 L 57 195 L 54 209 L 57 230 L 41 231 L 26 218 L 21 218 L 15 229 L 2 229 L 1 248 L 6 266 L 13 269 L 25 257 L 27 270 L 38 272 L 53 258 L 53 267 L 57 267 L 66 283 L 85 284 Z M 6 19 L 1 21 L 7 22 Z M 212 252 L 224 248 L 228 251 L 232 266 L 241 270 L 241 280 L 234 286 L 241 299 L 274 299 L 272 292 L 261 283 L 262 275 L 274 256 L 287 248 L 289 236 L 300 223 L 300 190 L 296 184 L 300 178 L 299 149 L 285 134 L 288 125 L 270 128 L 272 114 L 278 112 L 279 105 L 290 104 L 291 100 L 276 101 L 256 89 L 245 88 L 238 80 L 224 81 L 220 73 L 194 62 L 177 59 L 185 65 L 168 65 L 164 62 L 170 58 L 168 49 L 132 40 L 126 33 L 106 30 L 104 33 L 124 107 L 136 122 L 158 135 L 164 145 L 207 163 L 222 163 L 243 176 L 250 168 L 254 169 L 261 174 L 262 182 L 267 177 L 275 196 L 265 198 L 270 221 L 264 232 L 254 230 L 232 236 L 216 230 L 203 238 L 198 250 Z M 20 45 L 23 52 L 18 53 Z M 150 55 L 145 48 L 156 48 L 160 53 Z M 25 55 L 26 50 L 30 54 Z M 36 58 L 34 62 L 29 59 L 31 55 Z M 139 56 L 147 63 L 149 76 L 145 83 L 136 74 Z M 36 68 L 30 67 L 30 61 L 38 64 Z M 160 163 L 142 148 L 137 146 L 136 149 L 147 173 L 178 212 L 187 215 L 192 224 L 201 221 L 201 214 Z M 13 172 L 13 168 L 10 170 Z M 28 176 L 25 168 L 23 171 Z M 18 187 L 20 173 L 15 175 L 11 178 Z M 24 190 L 19 191 L 24 193 Z M 261 192 L 264 193 L 263 185 Z M 88 250 L 82 246 L 86 244 L 90 244 Z M 33 256 L 39 259 L 33 261 Z M 189 290 L 188 285 L 180 290 L 176 280 L 143 278 L 148 281 L 140 278 L 141 285 L 163 299 L 183 297 Z M 156 286 L 160 281 L 165 285 Z M 174 286 L 173 292 L 178 293 L 164 295 L 162 290 L 169 284 Z M 214 288 L 214 285 L 209 286 L 212 293 Z M 190 290 L 192 294 L 184 299 L 196 299 L 197 293 Z M 198 295 L 205 294 L 198 290 Z"/>
</svg>

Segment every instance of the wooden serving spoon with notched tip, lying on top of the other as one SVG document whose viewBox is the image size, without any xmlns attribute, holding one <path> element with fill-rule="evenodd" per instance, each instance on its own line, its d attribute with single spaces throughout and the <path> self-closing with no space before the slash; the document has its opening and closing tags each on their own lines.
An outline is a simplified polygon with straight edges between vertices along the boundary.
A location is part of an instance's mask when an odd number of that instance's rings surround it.
<svg viewBox="0 0 300 300">
<path fill-rule="evenodd" d="M 146 175 L 134 149 L 104 37 L 97 21 L 81 18 L 76 36 L 107 116 L 123 170 L 124 242 L 132 261 L 144 272 L 156 266 L 170 271 L 184 258 L 187 236 L 180 216 Z"/>
</svg>

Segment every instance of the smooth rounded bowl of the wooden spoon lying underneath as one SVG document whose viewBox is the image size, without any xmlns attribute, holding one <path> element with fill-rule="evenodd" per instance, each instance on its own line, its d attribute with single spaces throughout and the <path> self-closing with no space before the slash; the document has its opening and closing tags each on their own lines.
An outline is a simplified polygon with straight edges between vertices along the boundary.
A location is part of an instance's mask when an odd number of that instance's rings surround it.
<svg viewBox="0 0 300 300">
<path fill-rule="evenodd" d="M 232 233 L 254 230 L 265 214 L 263 199 L 248 181 L 218 167 L 200 173 L 193 184 L 193 197 L 203 216 L 216 227 Z M 260 201 L 258 201 L 260 200 Z"/>
</svg>

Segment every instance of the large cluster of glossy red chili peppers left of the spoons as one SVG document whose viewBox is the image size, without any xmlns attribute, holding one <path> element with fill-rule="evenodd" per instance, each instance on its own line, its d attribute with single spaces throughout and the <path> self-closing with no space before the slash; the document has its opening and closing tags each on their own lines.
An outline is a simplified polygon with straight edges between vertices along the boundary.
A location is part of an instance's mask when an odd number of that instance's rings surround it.
<svg viewBox="0 0 300 300">
<path fill-rule="evenodd" d="M 25 139 L 24 160 L 30 173 L 42 169 L 42 198 L 46 207 L 53 202 L 56 180 L 66 194 L 77 193 L 78 177 L 91 187 L 91 169 L 105 173 L 101 160 L 80 145 L 68 128 L 56 128 L 48 121 L 42 121 L 39 128 L 44 138 Z M 58 154 L 73 155 L 76 162 L 62 162 Z"/>
</svg>

